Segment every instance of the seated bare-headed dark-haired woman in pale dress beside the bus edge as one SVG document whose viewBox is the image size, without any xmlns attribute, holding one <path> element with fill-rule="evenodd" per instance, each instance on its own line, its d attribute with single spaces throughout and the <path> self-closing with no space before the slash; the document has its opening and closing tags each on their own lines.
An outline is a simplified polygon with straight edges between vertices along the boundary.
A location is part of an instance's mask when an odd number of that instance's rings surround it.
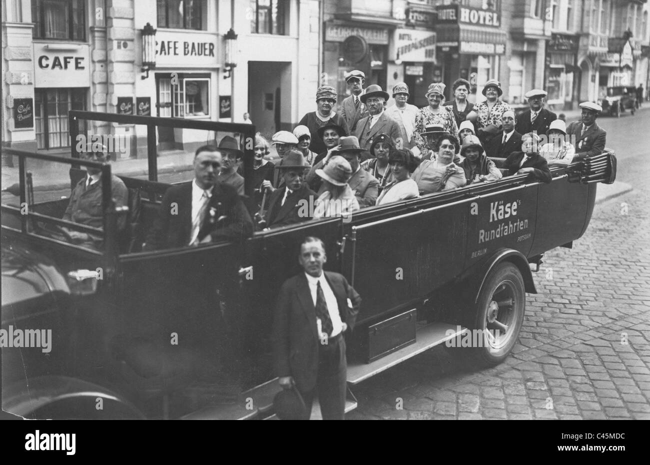
<svg viewBox="0 0 650 465">
<path fill-rule="evenodd" d="M 434 146 L 437 159 L 422 161 L 413 173 L 413 181 L 417 183 L 421 195 L 456 189 L 467 183 L 463 168 L 454 164 L 454 156 L 459 149 L 454 136 L 445 135 L 438 140 L 438 145 Z"/>
</svg>

